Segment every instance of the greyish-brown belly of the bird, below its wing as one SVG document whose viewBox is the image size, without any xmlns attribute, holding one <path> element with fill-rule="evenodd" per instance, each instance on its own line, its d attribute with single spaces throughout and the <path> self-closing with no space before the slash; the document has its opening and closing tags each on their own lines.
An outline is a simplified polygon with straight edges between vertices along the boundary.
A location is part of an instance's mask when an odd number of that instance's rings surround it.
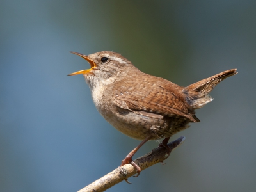
<svg viewBox="0 0 256 192">
<path fill-rule="evenodd" d="M 170 137 L 176 132 L 186 129 L 188 123 L 175 126 L 175 120 L 168 118 L 150 118 L 132 111 L 100 111 L 100 114 L 118 131 L 136 140 L 144 140 L 148 135 L 152 140 Z"/>
</svg>

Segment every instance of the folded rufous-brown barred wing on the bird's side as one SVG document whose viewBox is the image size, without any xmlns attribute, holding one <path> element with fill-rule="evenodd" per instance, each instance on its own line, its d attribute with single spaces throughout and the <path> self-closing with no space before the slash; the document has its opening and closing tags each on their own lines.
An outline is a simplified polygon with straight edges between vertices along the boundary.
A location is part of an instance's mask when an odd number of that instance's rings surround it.
<svg viewBox="0 0 256 192">
<path fill-rule="evenodd" d="M 134 84 L 133 81 L 131 92 L 127 91 L 129 87 L 122 83 L 122 86 L 118 86 L 114 92 L 115 99 L 113 102 L 120 108 L 136 111 L 136 113 L 141 113 L 140 111 L 144 111 L 147 114 L 152 113 L 152 117 L 156 116 L 153 114 L 170 117 L 183 116 L 191 120 L 191 122 L 198 122 L 195 115 L 189 113 L 186 101 L 179 95 L 175 95 L 171 90 L 173 84 L 168 84 L 171 83 L 170 81 L 166 82 L 167 84 L 164 85 L 154 82 L 152 86 L 148 86 L 150 90 L 147 90 L 145 82 L 141 87 L 141 84 L 136 83 L 136 81 Z"/>
</svg>

